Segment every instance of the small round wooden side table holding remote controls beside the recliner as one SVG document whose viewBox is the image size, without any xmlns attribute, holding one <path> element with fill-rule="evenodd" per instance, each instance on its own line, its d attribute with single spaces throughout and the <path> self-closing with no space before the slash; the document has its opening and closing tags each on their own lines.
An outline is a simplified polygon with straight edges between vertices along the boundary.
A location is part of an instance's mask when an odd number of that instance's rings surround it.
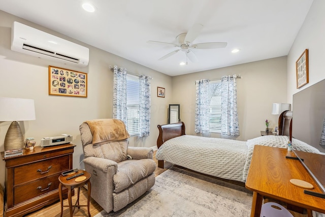
<svg viewBox="0 0 325 217">
<path fill-rule="evenodd" d="M 68 179 L 69 177 L 83 173 L 80 176 L 77 176 L 75 178 Z M 87 206 L 88 209 L 88 216 L 90 217 L 90 212 L 89 212 L 89 202 L 90 202 L 90 192 L 91 192 L 91 184 L 90 184 L 90 173 L 88 173 L 85 170 L 79 170 L 78 172 L 71 173 L 66 176 L 59 176 L 59 196 L 60 196 L 60 203 L 61 203 L 61 217 L 63 214 L 63 207 L 69 207 L 70 209 L 70 216 L 73 216 L 73 212 L 75 211 L 76 206 L 78 209 L 80 209 L 80 206 Z M 88 199 L 87 199 L 87 205 L 80 205 L 79 204 L 79 193 L 80 193 L 80 187 L 87 185 L 88 186 Z M 62 199 L 62 186 L 65 186 L 68 189 L 68 201 L 69 201 L 69 206 L 63 206 L 63 199 Z M 74 188 L 78 188 L 78 198 L 77 201 L 72 208 L 72 200 L 71 200 L 71 192 Z"/>
</svg>

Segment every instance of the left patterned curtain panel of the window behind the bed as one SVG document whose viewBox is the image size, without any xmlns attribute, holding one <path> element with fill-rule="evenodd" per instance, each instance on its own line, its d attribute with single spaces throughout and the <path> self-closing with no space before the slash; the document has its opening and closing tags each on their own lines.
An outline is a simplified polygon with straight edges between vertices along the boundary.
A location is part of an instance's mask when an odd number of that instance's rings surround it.
<svg viewBox="0 0 325 217">
<path fill-rule="evenodd" d="M 209 80 L 196 81 L 195 127 L 196 133 L 209 133 Z"/>
</svg>

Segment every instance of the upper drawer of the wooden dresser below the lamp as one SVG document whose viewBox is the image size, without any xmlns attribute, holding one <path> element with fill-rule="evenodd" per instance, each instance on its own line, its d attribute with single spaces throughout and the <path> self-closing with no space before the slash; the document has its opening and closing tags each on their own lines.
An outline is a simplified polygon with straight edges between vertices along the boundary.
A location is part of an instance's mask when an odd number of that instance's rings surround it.
<svg viewBox="0 0 325 217">
<path fill-rule="evenodd" d="M 14 186 L 69 170 L 69 155 L 46 159 L 14 168 Z"/>
</svg>

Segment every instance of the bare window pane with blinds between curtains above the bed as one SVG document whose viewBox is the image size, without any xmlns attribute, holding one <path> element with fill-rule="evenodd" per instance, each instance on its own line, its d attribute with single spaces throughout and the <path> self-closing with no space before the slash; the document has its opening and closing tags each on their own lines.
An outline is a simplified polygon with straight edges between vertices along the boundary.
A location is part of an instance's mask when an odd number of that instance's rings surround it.
<svg viewBox="0 0 325 217">
<path fill-rule="evenodd" d="M 221 82 L 209 83 L 209 127 L 210 132 L 221 132 Z"/>
</svg>

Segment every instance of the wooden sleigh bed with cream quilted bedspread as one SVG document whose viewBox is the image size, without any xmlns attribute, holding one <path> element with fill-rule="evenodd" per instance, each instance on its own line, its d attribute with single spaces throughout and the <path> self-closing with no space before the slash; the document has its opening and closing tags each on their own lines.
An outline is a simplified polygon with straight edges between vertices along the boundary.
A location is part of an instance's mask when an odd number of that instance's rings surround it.
<svg viewBox="0 0 325 217">
<path fill-rule="evenodd" d="M 193 171 L 244 183 L 256 144 L 287 148 L 291 141 L 295 150 L 320 154 L 316 148 L 292 138 L 292 116 L 290 111 L 280 115 L 279 135 L 247 141 L 186 135 L 183 122 L 158 125 L 158 167 L 164 168 L 164 161 L 168 161 Z"/>
</svg>

